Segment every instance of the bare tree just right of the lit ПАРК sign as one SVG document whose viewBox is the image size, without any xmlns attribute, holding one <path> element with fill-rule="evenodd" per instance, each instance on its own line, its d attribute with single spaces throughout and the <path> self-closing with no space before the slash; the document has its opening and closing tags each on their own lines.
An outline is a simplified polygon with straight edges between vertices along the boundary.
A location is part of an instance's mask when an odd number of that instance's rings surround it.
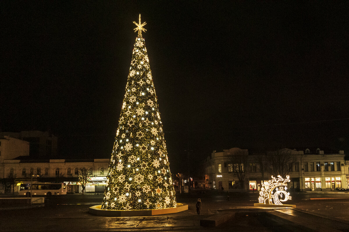
<svg viewBox="0 0 349 232">
<path fill-rule="evenodd" d="M 228 162 L 230 167 L 230 173 L 236 176 L 239 180 L 240 187 L 244 189 L 244 181 L 247 174 L 248 165 L 248 151 L 239 149 L 237 147 L 229 149 L 228 151 Z"/>
</svg>

